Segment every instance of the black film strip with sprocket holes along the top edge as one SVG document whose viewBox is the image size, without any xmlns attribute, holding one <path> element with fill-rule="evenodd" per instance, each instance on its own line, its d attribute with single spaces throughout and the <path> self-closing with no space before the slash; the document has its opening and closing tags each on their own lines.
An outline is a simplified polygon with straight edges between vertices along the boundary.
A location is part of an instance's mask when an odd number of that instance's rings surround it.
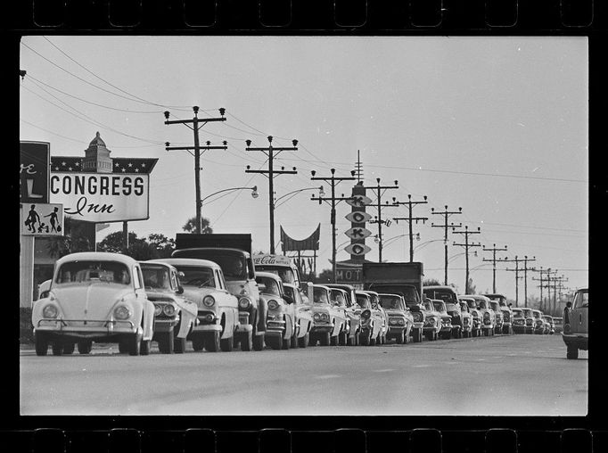
<svg viewBox="0 0 608 453">
<path fill-rule="evenodd" d="M 29 0 L 15 29 L 175 32 L 464 32 L 580 30 L 605 26 L 594 0 Z"/>
</svg>

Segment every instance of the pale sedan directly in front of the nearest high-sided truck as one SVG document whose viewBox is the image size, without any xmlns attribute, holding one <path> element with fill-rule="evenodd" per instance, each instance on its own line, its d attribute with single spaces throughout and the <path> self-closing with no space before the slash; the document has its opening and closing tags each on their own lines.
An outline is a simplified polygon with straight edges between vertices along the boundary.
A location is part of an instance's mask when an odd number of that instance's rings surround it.
<svg viewBox="0 0 608 453">
<path fill-rule="evenodd" d="M 186 337 L 193 350 L 230 351 L 239 327 L 239 305 L 236 296 L 228 292 L 222 268 L 215 261 L 197 258 L 150 259 L 146 262 L 167 263 L 177 269 L 184 296 L 198 309 L 198 322 Z M 242 338 L 242 350 L 251 350 L 251 336 Z"/>
</svg>

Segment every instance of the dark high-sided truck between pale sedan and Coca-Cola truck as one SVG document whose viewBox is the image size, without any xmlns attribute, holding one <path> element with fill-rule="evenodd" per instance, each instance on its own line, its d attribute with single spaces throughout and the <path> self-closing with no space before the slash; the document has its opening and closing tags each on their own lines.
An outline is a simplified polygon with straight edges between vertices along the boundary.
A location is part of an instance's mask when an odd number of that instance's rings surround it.
<svg viewBox="0 0 608 453">
<path fill-rule="evenodd" d="M 267 306 L 259 295 L 256 268 L 251 259 L 250 234 L 190 234 L 176 235 L 176 250 L 172 258 L 209 259 L 222 268 L 228 292 L 239 305 L 239 325 L 234 342 L 242 350 L 264 349 Z"/>
</svg>

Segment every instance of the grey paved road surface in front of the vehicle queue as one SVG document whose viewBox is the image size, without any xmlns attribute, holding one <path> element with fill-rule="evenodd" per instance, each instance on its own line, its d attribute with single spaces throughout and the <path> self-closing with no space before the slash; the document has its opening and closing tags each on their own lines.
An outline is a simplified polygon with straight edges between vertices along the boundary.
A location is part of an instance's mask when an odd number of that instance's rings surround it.
<svg viewBox="0 0 608 453">
<path fill-rule="evenodd" d="M 113 351 L 113 353 L 112 353 Z M 587 351 L 559 335 L 370 347 L 36 357 L 22 415 L 587 414 Z"/>
</svg>

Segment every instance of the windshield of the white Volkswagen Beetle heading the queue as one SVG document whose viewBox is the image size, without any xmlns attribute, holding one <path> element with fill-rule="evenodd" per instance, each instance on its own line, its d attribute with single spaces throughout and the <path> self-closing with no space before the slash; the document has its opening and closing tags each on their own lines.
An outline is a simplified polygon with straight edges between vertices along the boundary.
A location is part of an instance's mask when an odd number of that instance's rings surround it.
<svg viewBox="0 0 608 453">
<path fill-rule="evenodd" d="M 56 284 L 94 282 L 130 284 L 131 277 L 118 261 L 70 261 L 62 264 L 55 278 Z"/>
</svg>

